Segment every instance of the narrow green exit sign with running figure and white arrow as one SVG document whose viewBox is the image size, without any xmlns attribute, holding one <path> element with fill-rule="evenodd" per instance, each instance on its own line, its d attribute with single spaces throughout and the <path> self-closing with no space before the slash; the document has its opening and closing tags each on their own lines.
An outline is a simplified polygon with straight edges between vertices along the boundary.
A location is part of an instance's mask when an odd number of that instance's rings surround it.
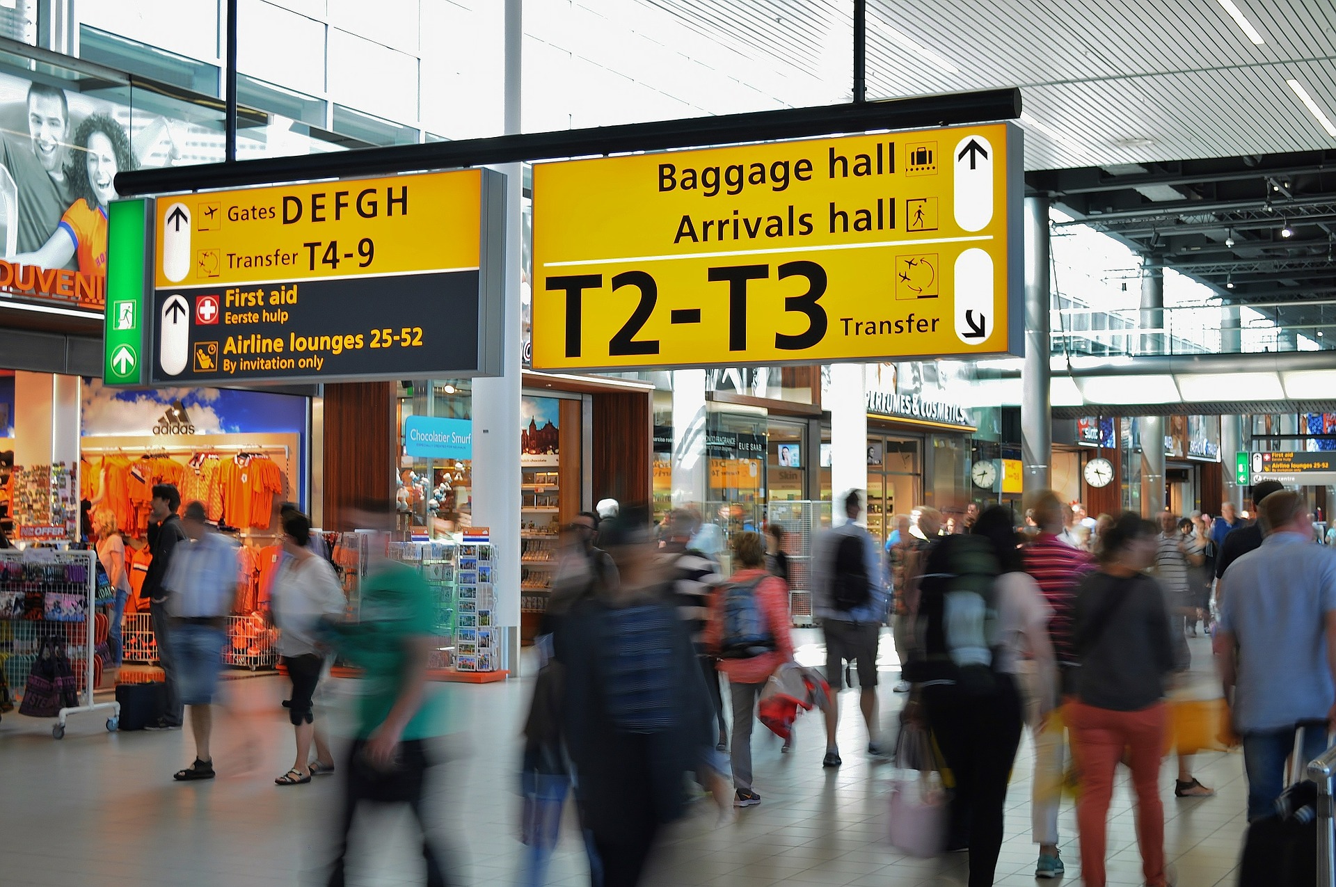
<svg viewBox="0 0 1336 887">
<path fill-rule="evenodd" d="M 107 318 L 102 366 L 102 381 L 107 385 L 142 385 L 147 378 L 148 211 L 148 200 L 114 200 L 107 212 Z"/>
</svg>

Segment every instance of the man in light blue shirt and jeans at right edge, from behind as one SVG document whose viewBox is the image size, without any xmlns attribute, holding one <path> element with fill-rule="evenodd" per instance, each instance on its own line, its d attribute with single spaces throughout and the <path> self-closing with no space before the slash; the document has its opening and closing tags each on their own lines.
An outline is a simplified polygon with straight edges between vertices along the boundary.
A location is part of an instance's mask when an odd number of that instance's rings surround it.
<svg viewBox="0 0 1336 887">
<path fill-rule="evenodd" d="M 1336 727 L 1336 552 L 1313 544 L 1301 494 L 1271 493 L 1259 512 L 1265 541 L 1225 573 L 1217 631 L 1225 699 L 1233 695 L 1244 744 L 1249 822 L 1271 815 L 1285 787 L 1295 732 L 1303 728 L 1309 761 Z"/>
</svg>

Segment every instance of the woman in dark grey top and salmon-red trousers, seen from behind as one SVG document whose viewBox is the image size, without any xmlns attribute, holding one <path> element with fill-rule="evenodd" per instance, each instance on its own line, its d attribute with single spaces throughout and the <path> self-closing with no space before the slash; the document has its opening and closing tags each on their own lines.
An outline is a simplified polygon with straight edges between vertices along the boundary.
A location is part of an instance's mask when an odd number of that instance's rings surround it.
<svg viewBox="0 0 1336 887">
<path fill-rule="evenodd" d="M 1109 800 L 1128 756 L 1137 795 L 1137 844 L 1148 887 L 1164 887 L 1165 687 L 1174 668 L 1169 613 L 1160 584 L 1145 574 L 1156 558 L 1156 525 L 1125 513 L 1104 537 L 1100 570 L 1077 589 L 1073 643 L 1081 657 L 1077 699 L 1065 705 L 1073 755 L 1081 761 L 1077 830 L 1081 880 L 1105 886 Z"/>
</svg>

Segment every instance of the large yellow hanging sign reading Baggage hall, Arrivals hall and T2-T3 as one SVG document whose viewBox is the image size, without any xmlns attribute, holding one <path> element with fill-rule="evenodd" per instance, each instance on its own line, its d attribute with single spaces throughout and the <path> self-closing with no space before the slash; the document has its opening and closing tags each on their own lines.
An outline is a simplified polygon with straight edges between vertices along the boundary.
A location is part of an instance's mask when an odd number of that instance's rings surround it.
<svg viewBox="0 0 1336 887">
<path fill-rule="evenodd" d="M 533 170 L 533 366 L 1019 354 L 1021 130 Z"/>
</svg>

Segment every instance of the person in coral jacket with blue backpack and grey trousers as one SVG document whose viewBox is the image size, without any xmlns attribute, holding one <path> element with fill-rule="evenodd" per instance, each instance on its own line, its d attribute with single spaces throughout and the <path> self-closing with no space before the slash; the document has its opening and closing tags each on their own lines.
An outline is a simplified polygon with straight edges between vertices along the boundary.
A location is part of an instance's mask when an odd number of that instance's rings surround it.
<svg viewBox="0 0 1336 887">
<path fill-rule="evenodd" d="M 756 703 L 766 680 L 794 657 L 790 637 L 788 589 L 766 572 L 766 549 L 758 533 L 732 538 L 737 570 L 715 594 L 705 627 L 705 647 L 719 656 L 719 671 L 728 676 L 733 707 L 733 765 L 736 807 L 760 803 L 752 791 L 751 732 Z"/>
</svg>

